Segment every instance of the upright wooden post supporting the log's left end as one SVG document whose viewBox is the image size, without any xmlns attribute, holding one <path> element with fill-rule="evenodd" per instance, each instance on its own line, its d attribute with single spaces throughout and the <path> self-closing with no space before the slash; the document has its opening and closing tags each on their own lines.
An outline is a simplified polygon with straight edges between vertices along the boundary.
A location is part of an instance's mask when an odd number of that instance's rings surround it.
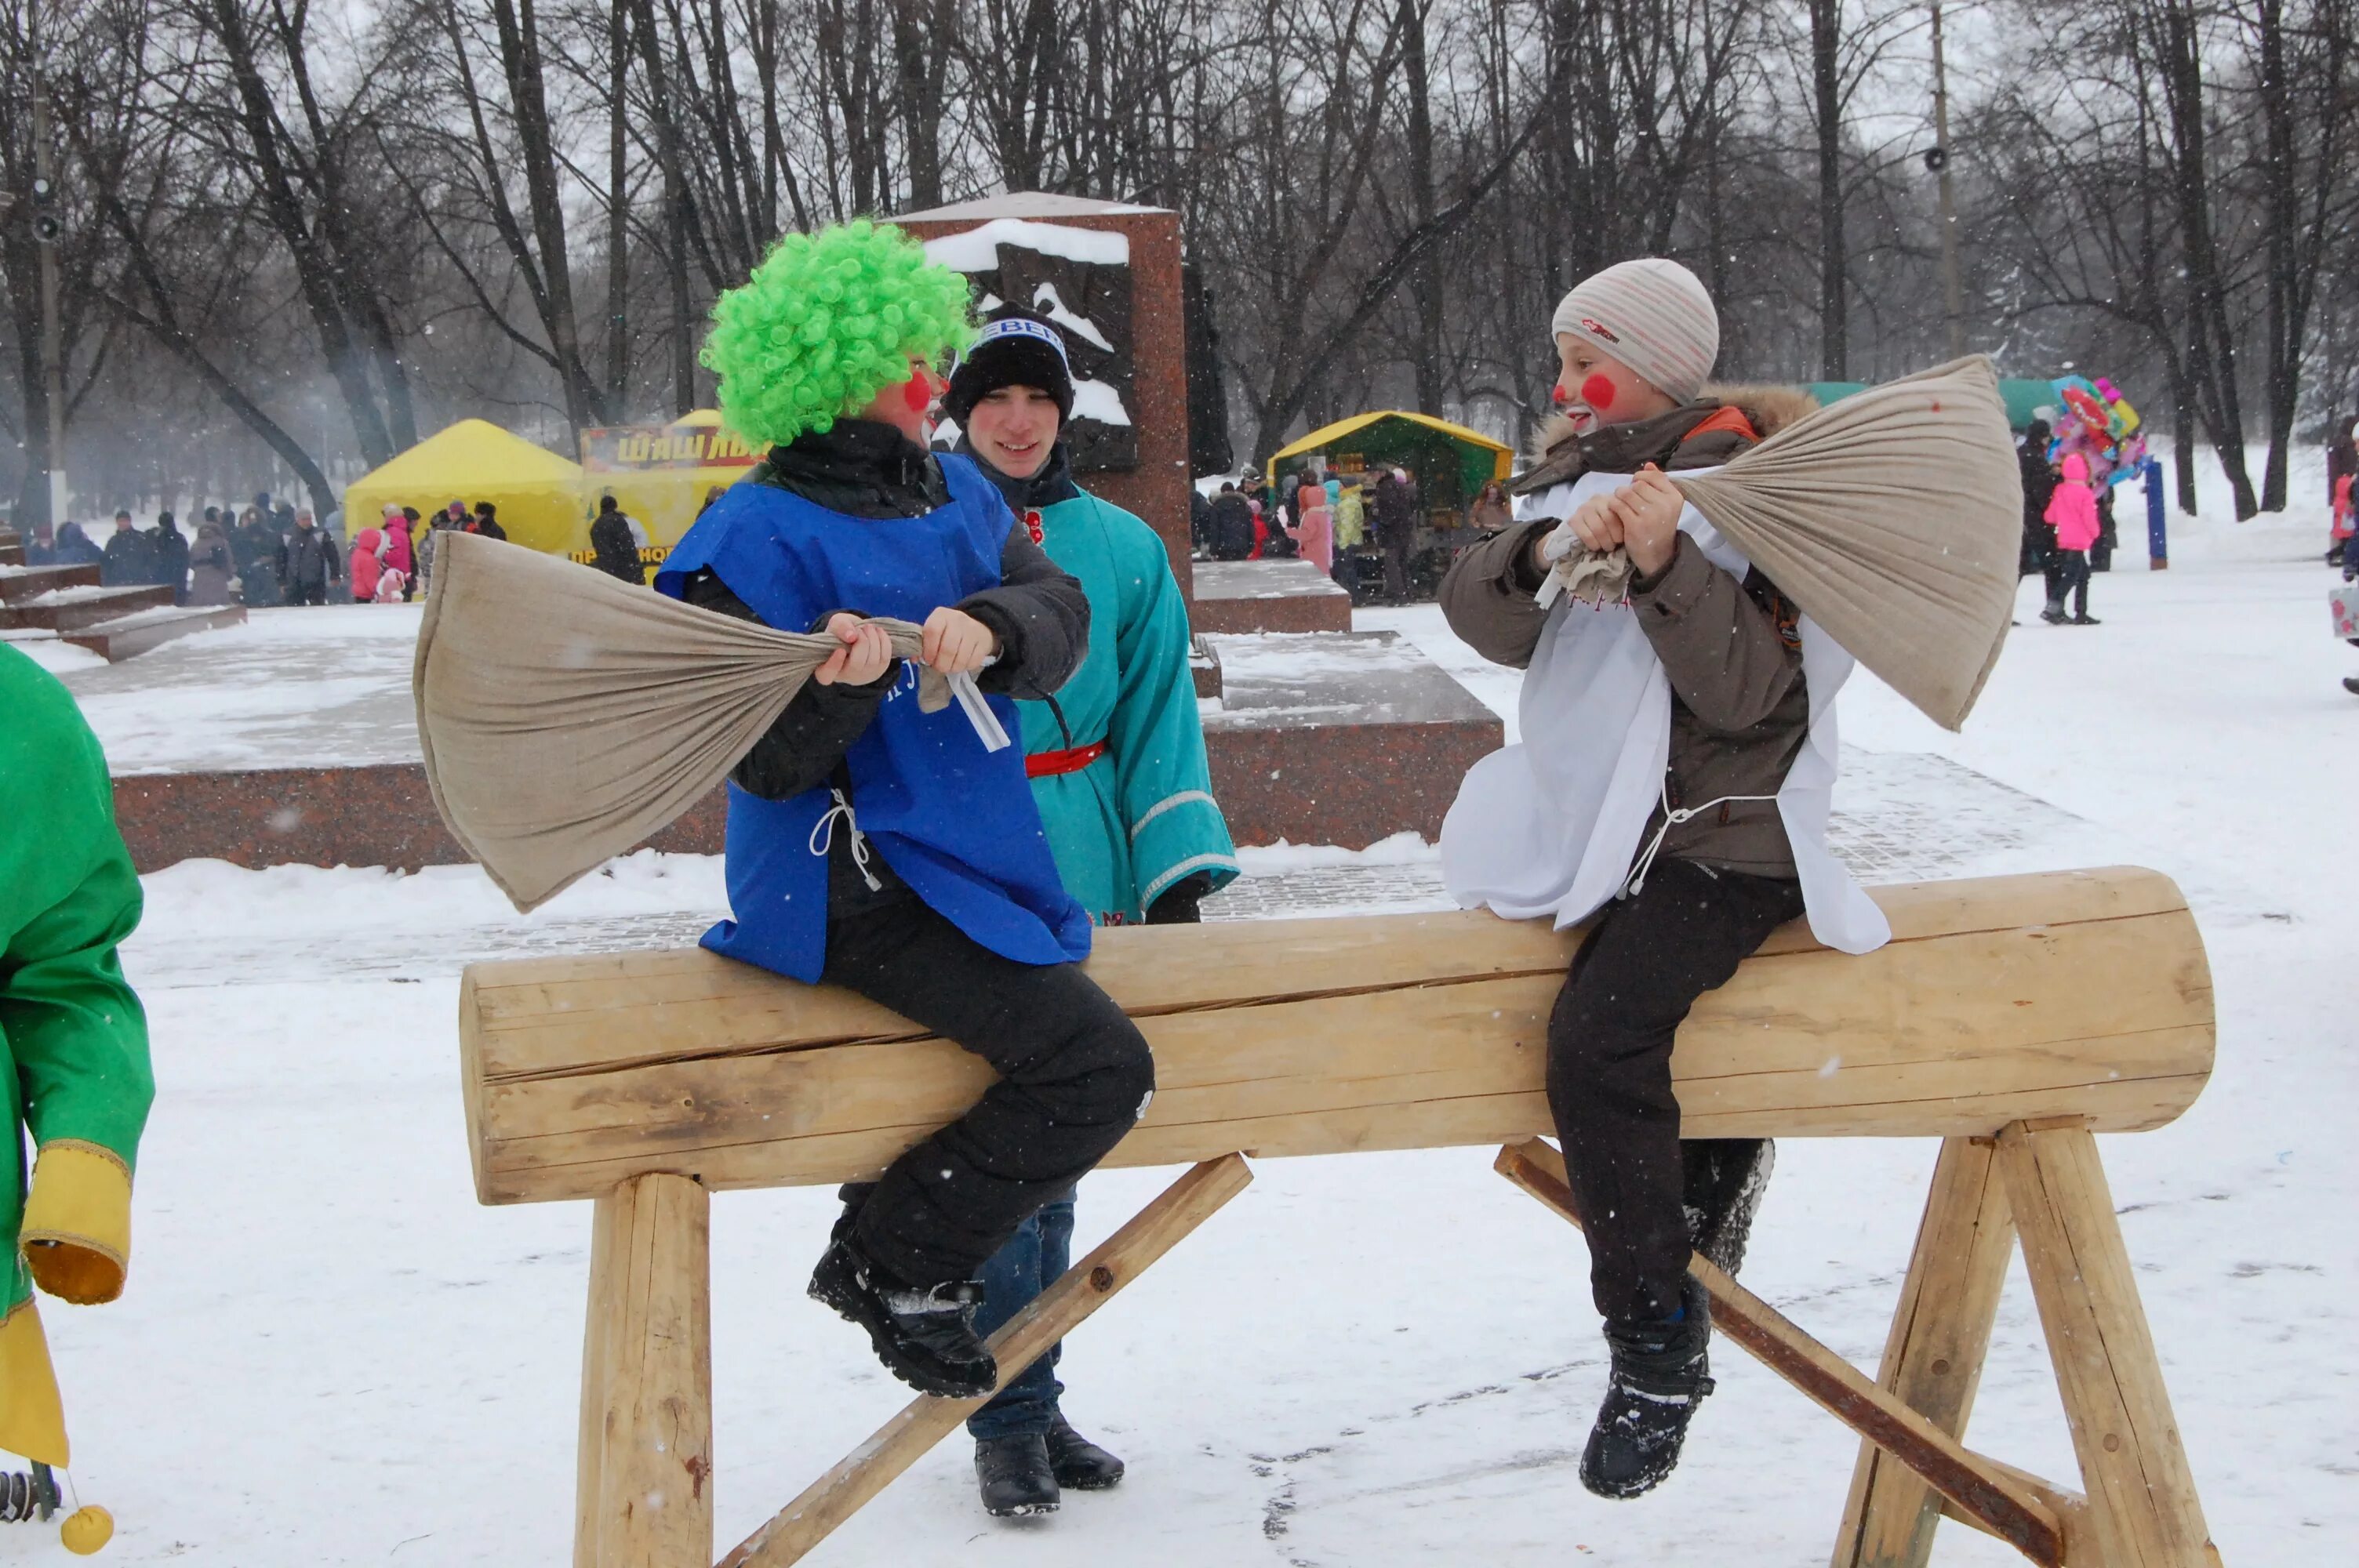
<svg viewBox="0 0 2359 1568">
<path fill-rule="evenodd" d="M 576 1568 L 712 1561 L 712 1200 L 632 1177 L 597 1200 Z"/>
</svg>

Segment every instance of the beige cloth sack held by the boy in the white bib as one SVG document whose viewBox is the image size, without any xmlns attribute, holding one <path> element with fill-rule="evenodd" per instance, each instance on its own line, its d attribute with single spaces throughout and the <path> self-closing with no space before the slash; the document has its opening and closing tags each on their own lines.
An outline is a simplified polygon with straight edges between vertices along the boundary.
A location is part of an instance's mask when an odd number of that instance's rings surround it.
<svg viewBox="0 0 2359 1568">
<path fill-rule="evenodd" d="M 2015 613 L 2024 481 L 1982 354 L 1795 420 L 1710 474 L 1670 474 L 1802 613 L 1944 729 L 1965 724 Z M 1621 599 L 1630 556 L 1543 585 Z"/>
</svg>

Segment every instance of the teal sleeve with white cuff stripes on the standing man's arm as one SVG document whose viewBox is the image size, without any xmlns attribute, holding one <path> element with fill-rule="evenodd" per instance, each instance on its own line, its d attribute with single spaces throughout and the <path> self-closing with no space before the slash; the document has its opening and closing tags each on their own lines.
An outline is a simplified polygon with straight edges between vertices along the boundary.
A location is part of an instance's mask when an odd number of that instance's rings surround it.
<svg viewBox="0 0 2359 1568">
<path fill-rule="evenodd" d="M 1121 693 L 1106 745 L 1118 769 L 1121 816 L 1130 825 L 1130 870 L 1139 908 L 1146 908 L 1194 872 L 1208 872 L 1215 889 L 1234 882 L 1236 844 L 1213 799 L 1180 582 L 1154 528 L 1128 512 L 1118 519 L 1128 528 L 1109 528 L 1109 535 L 1121 575 Z"/>
</svg>

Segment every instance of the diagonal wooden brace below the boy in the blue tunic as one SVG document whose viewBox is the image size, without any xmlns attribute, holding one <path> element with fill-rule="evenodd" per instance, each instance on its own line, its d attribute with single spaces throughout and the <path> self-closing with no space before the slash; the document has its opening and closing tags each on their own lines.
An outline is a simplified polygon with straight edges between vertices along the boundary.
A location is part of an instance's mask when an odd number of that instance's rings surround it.
<svg viewBox="0 0 2359 1568">
<path fill-rule="evenodd" d="M 1000 1384 L 1017 1377 L 1064 1339 L 1073 1325 L 1097 1311 L 1116 1290 L 1135 1280 L 1149 1264 L 1203 1224 L 1213 1210 L 1236 1198 L 1253 1181 L 1241 1155 L 1205 1160 L 1163 1188 L 1154 1203 L 1080 1259 L 1040 1297 L 991 1335 L 991 1353 L 1000 1363 Z M 946 1438 L 967 1415 L 986 1405 L 981 1398 L 911 1401 L 901 1415 L 885 1422 L 835 1469 L 814 1481 L 800 1497 L 719 1561 L 719 1568 L 786 1568 L 852 1518 L 901 1471 Z M 710 1551 L 708 1551 L 710 1556 Z"/>
</svg>

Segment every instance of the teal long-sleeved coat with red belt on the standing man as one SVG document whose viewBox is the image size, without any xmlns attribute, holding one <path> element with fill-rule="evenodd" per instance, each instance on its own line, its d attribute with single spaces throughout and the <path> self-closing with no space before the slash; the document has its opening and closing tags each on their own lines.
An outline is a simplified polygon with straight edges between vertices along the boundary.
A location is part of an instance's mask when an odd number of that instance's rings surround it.
<svg viewBox="0 0 2359 1568">
<path fill-rule="evenodd" d="M 1066 891 L 1097 924 L 1137 924 L 1182 877 L 1236 879 L 1203 755 L 1187 604 L 1163 540 L 1130 512 L 1083 493 L 1026 516 L 1090 597 L 1090 655 L 1054 703 L 1017 703 L 1024 752 L 1106 747 L 1073 773 L 1036 776 L 1033 799 Z"/>
</svg>

